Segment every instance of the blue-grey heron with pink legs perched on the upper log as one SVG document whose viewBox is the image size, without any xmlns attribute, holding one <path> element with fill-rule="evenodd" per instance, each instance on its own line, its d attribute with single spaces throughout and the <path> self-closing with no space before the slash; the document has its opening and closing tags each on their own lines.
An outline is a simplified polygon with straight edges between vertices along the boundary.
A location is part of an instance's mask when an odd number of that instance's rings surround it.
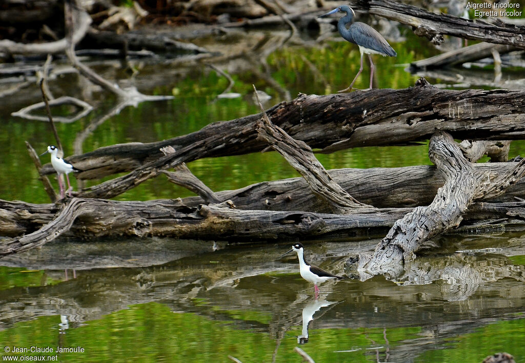
<svg viewBox="0 0 525 363">
<path fill-rule="evenodd" d="M 342 89 L 339 92 L 346 92 L 351 90 L 354 85 L 355 80 L 361 74 L 363 70 L 363 54 L 366 53 L 370 59 L 370 88 L 372 88 L 372 80 L 374 77 L 374 63 L 372 62 L 371 54 L 381 54 L 384 56 L 395 57 L 397 53 L 394 49 L 388 44 L 381 34 L 379 34 L 373 27 L 368 24 L 361 22 L 354 22 L 355 13 L 352 8 L 348 5 L 341 5 L 332 11 L 318 16 L 318 18 L 323 16 L 328 16 L 334 13 L 343 12 L 346 13 L 345 16 L 339 19 L 337 22 L 337 28 L 339 34 L 350 43 L 359 45 L 359 51 L 361 52 L 361 67 L 359 67 L 358 74 L 355 75 L 354 80 L 348 86 L 348 88 Z M 350 27 L 346 29 L 346 24 L 350 24 Z"/>
</svg>

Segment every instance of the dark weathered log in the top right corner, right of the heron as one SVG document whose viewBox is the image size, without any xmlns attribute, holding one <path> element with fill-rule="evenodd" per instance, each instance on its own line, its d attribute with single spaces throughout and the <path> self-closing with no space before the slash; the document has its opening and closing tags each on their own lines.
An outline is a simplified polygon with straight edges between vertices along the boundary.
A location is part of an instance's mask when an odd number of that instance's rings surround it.
<svg viewBox="0 0 525 363">
<path fill-rule="evenodd" d="M 525 49 L 525 26 L 496 24 L 477 19 L 471 21 L 454 15 L 434 14 L 422 8 L 391 0 L 356 0 L 358 8 L 412 26 L 416 35 L 425 36 L 434 44 L 443 42 L 443 35 L 489 43 L 509 44 Z"/>
</svg>

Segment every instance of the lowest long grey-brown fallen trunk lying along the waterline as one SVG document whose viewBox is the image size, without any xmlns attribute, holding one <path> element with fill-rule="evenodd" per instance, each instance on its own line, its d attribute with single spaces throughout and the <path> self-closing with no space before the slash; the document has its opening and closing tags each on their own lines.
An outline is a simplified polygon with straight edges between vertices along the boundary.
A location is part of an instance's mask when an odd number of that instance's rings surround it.
<svg viewBox="0 0 525 363">
<path fill-rule="evenodd" d="M 60 210 L 57 204 L 0 201 L 0 234 L 26 234 L 0 241 L 0 256 L 41 246 L 59 236 L 82 239 L 162 236 L 244 242 L 348 238 L 383 233 L 413 208 L 338 215 L 300 210 L 242 210 L 232 208 L 231 203 L 191 208 L 181 200 L 173 199 L 113 201 L 74 198 Z M 523 230 L 524 210 L 523 202 L 482 203 L 472 206 L 463 218 L 474 225 L 472 231 L 494 228 Z M 478 225 L 478 220 L 484 224 Z"/>
</svg>

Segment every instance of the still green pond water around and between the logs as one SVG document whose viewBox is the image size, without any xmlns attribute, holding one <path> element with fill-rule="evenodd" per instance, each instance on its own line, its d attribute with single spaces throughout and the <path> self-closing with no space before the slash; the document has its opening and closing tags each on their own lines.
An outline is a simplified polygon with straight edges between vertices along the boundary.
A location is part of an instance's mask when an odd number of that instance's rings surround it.
<svg viewBox="0 0 525 363">
<path fill-rule="evenodd" d="M 403 64 L 437 53 L 411 32 L 403 36 L 406 42 L 392 43 L 396 58 L 374 58 L 376 87 L 412 86 L 417 77 L 406 73 Z M 235 62 L 224 67 L 235 81 L 230 92 L 241 94 L 235 99 L 216 99 L 228 81 L 204 66 L 138 62 L 138 73 L 131 77 L 122 65 L 92 65 L 109 79 L 128 79 L 144 94 L 175 98 L 123 109 L 93 130 L 82 149 L 153 142 L 257 113 L 252 84 L 272 96 L 267 108 L 286 97 L 282 89 L 292 98 L 299 92 L 333 93 L 351 82 L 359 68 L 359 51 L 346 42 L 289 46 L 269 54 L 266 63 L 255 64 L 257 72 Z M 357 87 L 367 86 L 368 71 L 365 66 Z M 261 72 L 281 89 L 257 76 Z M 70 155 L 73 140 L 116 100 L 90 89 L 75 74 L 61 76 L 50 86 L 55 96 L 80 95 L 96 106 L 75 123 L 57 125 Z M 39 101 L 36 86 L 0 99 L 2 199 L 48 202 L 24 140 L 43 152 L 54 143 L 53 134 L 47 123 L 10 116 Z M 65 109 L 55 110 L 60 111 Z M 511 156 L 524 152 L 523 143 L 512 144 Z M 427 145 L 369 147 L 318 158 L 327 169 L 429 164 Z M 274 152 L 196 160 L 188 167 L 213 190 L 298 176 Z M 117 199 L 189 195 L 161 176 Z M 312 286 L 298 274 L 297 258 L 279 258 L 289 245 L 268 242 L 248 247 L 155 238 L 69 240 L 3 258 L 0 341 L 8 348 L 2 356 L 11 356 L 8 350 L 13 348 L 51 347 L 49 354 L 14 356 L 185 362 L 226 362 L 233 356 L 243 362 L 288 362 L 301 360 L 293 348 L 299 346 L 297 337 L 308 332 L 308 342 L 300 347 L 317 362 L 480 362 L 499 351 L 525 360 L 525 248 L 519 234 L 450 239 L 439 256 L 424 256 L 418 259 L 421 265 L 413 266 L 424 271 L 432 266 L 434 274 L 426 279 L 328 283 L 321 286 L 317 301 Z M 343 273 L 345 256 L 372 250 L 376 243 L 367 239 L 305 245 L 313 263 Z M 57 353 L 59 347 L 83 351 Z"/>
</svg>

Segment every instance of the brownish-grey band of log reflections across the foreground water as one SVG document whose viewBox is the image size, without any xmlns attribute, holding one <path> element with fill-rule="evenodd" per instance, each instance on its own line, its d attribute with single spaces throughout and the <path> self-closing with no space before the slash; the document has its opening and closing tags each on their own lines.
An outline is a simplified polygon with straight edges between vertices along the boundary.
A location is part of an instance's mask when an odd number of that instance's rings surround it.
<svg viewBox="0 0 525 363">
<path fill-rule="evenodd" d="M 370 245 L 359 249 L 370 250 L 375 242 L 371 241 Z M 202 246 L 202 243 L 195 241 L 193 244 Z M 88 254 L 82 254 L 83 258 L 100 261 L 102 252 L 97 252 L 93 246 L 91 248 Z M 343 256 L 348 249 L 349 243 L 330 244 L 330 255 L 339 256 L 330 258 L 330 269 L 342 270 Z M 356 246 L 355 251 L 359 249 Z M 68 281 L 59 281 L 63 272 L 51 270 L 45 277 L 55 280 L 53 285 L 15 287 L 2 291 L 0 329 L 39 316 L 66 315 L 69 321 L 89 321 L 127 309 L 129 305 L 159 301 L 173 311 L 192 312 L 215 320 L 233 320 L 235 326 L 241 329 L 255 329 L 279 336 L 283 326 L 300 326 L 301 308 L 309 297 L 302 291 L 310 291 L 300 279 L 296 264 L 291 266 L 276 259 L 280 250 L 279 247 L 208 249 L 208 252 L 201 254 L 181 253 L 178 260 L 160 266 L 78 270 L 77 278 Z M 317 249 L 319 255 L 325 252 Z M 319 262 L 316 258 L 313 261 Z M 23 263 L 22 260 L 18 262 Z M 93 263 L 87 264 L 94 266 Z M 324 264 L 321 266 L 328 268 Z M 383 278 L 365 282 L 345 280 L 324 286 L 327 292 L 330 291 L 327 298 L 344 301 L 333 308 L 338 312 L 337 317 L 332 316 L 331 310 L 330 314 L 316 322 L 316 328 L 383 327 L 385 321 L 382 314 L 392 309 L 402 316 L 402 324 L 411 325 L 413 321 L 421 320 L 419 316 L 426 314 L 428 304 L 435 306 L 436 303 L 437 309 L 433 310 L 435 319 L 429 320 L 432 324 L 448 325 L 456 321 L 458 311 L 461 311 L 460 318 L 465 319 L 465 326 L 468 327 L 470 319 L 476 320 L 479 314 L 493 314 L 495 307 L 501 309 L 503 314 L 522 311 L 525 303 L 523 285 L 516 282 L 523 281 L 525 268 L 512 265 L 501 256 L 455 254 L 434 256 L 432 259 L 421 257 L 416 263 L 407 265 L 407 269 L 409 272 L 402 285 L 413 286 L 392 288 L 392 282 Z M 277 271 L 287 273 L 277 274 Z M 505 277 L 511 279 L 499 281 Z M 430 284 L 432 280 L 439 282 Z M 486 283 L 492 284 L 485 286 Z M 468 291 L 456 291 L 462 284 L 467 286 Z M 455 301 L 458 296 L 466 301 Z M 449 303 L 440 305 L 444 300 Z M 465 304 L 476 310 L 467 309 Z M 380 313 L 373 319 L 370 315 L 372 306 L 377 307 Z M 270 319 L 268 322 L 246 321 L 228 314 L 231 310 L 247 309 L 264 311 Z M 388 321 L 386 326 L 390 324 Z M 395 326 L 399 323 L 395 321 Z"/>
</svg>

